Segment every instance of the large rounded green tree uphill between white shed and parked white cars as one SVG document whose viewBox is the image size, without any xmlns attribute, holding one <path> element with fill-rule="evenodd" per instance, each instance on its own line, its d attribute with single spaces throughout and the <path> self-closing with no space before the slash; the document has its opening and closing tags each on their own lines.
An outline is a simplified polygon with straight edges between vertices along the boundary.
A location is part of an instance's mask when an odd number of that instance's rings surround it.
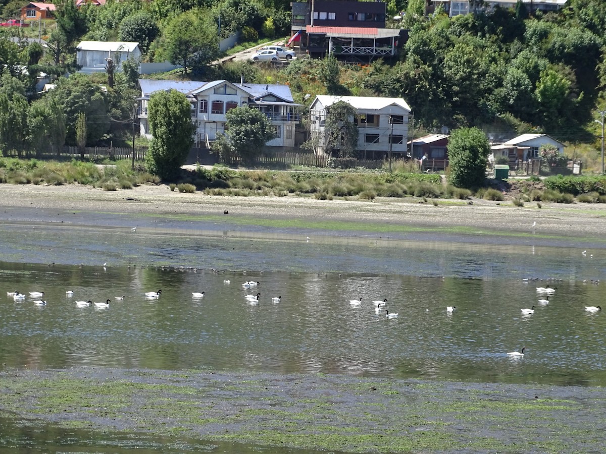
<svg viewBox="0 0 606 454">
<path fill-rule="evenodd" d="M 173 65 L 182 65 L 185 74 L 189 67 L 200 72 L 219 56 L 218 31 L 208 16 L 202 11 L 191 10 L 168 22 L 156 56 L 160 54 Z"/>
</svg>

